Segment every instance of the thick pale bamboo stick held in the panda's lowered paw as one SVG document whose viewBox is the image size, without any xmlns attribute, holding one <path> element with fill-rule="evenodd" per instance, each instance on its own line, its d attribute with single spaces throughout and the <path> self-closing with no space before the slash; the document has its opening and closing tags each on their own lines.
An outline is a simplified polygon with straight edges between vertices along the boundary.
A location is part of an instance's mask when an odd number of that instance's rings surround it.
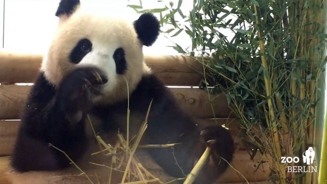
<svg viewBox="0 0 327 184">
<path fill-rule="evenodd" d="M 187 174 L 187 177 L 183 184 L 191 184 L 196 179 L 197 174 L 201 171 L 202 167 L 204 166 L 205 162 L 207 161 L 210 155 L 211 148 L 206 147 L 201 157 L 198 159 L 192 170 Z"/>
</svg>

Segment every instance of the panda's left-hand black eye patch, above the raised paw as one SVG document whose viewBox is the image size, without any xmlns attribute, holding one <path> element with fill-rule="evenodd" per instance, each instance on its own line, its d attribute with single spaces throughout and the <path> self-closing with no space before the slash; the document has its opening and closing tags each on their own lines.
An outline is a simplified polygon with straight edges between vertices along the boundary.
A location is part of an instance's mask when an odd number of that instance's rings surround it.
<svg viewBox="0 0 327 184">
<path fill-rule="evenodd" d="M 75 47 L 70 52 L 70 61 L 77 64 L 81 59 L 92 50 L 92 43 L 90 40 L 84 38 L 78 41 Z"/>
</svg>

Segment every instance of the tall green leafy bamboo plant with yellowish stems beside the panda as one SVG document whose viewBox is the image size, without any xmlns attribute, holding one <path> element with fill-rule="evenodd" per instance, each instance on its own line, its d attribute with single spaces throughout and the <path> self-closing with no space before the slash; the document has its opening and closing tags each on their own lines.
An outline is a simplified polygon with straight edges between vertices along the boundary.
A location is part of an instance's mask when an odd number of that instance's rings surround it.
<svg viewBox="0 0 327 184">
<path fill-rule="evenodd" d="M 193 0 L 189 12 L 180 10 L 182 3 L 186 1 L 156 9 L 129 6 L 159 13 L 167 36 L 189 35 L 189 48 L 178 42 L 173 48 L 203 63 L 201 88 L 226 94 L 251 156 L 259 151 L 260 163 L 269 163 L 271 182 L 318 183 L 317 172 L 287 172 L 287 166 L 301 161 L 280 159 L 301 159 L 308 146 L 321 145 L 315 135 L 324 101 L 324 86 L 318 83 L 326 61 L 326 0 Z M 233 35 L 227 37 L 222 29 Z M 313 166 L 320 158 L 318 151 L 316 155 Z M 326 174 L 321 165 L 319 179 Z"/>
</svg>

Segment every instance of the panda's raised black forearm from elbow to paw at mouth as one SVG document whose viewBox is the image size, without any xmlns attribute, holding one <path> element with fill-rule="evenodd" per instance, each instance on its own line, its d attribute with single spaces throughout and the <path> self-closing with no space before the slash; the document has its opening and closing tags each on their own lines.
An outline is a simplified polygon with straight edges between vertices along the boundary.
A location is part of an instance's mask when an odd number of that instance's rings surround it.
<svg viewBox="0 0 327 184">
<path fill-rule="evenodd" d="M 101 84 L 107 82 L 100 69 L 87 66 L 77 67 L 67 74 L 59 85 L 55 99 L 57 116 L 53 125 L 51 144 L 65 151 L 73 160 L 78 159 L 87 146 L 85 122 L 88 111 L 93 106 L 93 98 L 101 95 Z M 66 165 L 68 159 L 56 151 L 61 165 Z M 63 159 L 63 160 L 62 160 Z"/>
</svg>

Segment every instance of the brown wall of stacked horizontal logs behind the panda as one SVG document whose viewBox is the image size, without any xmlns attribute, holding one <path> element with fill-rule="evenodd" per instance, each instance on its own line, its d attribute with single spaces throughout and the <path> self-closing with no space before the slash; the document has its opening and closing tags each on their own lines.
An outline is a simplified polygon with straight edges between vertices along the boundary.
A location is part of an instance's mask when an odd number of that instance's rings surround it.
<svg viewBox="0 0 327 184">
<path fill-rule="evenodd" d="M 30 85 L 15 83 L 32 83 L 38 74 L 41 59 L 41 55 L 0 52 L 0 175 L 4 169 L 3 163 L 7 162 L 7 158 L 3 156 L 12 153 L 20 124 L 20 109 L 31 88 Z M 202 79 L 199 73 L 203 70 L 201 63 L 186 56 L 145 56 L 145 62 L 165 85 L 197 86 Z M 242 182 L 243 176 L 247 181 L 267 180 L 268 165 L 263 164 L 261 168 L 256 168 L 255 165 L 260 161 L 259 155 L 250 160 L 238 136 L 239 122 L 233 118 L 224 94 L 208 95 L 198 88 L 176 87 L 170 90 L 179 105 L 197 118 L 199 123 L 225 124 L 229 128 L 236 147 L 231 165 L 237 171 L 228 168 L 219 178 L 219 182 Z"/>
</svg>

